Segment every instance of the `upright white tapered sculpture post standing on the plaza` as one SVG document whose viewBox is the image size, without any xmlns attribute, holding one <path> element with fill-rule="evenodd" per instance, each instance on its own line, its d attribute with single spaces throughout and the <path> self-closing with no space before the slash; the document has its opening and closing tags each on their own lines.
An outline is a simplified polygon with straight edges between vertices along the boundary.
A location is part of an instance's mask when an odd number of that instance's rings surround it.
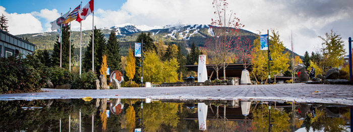
<svg viewBox="0 0 353 132">
<path fill-rule="evenodd" d="M 205 82 L 207 80 L 206 55 L 199 55 L 199 63 L 197 68 L 197 82 Z"/>
</svg>

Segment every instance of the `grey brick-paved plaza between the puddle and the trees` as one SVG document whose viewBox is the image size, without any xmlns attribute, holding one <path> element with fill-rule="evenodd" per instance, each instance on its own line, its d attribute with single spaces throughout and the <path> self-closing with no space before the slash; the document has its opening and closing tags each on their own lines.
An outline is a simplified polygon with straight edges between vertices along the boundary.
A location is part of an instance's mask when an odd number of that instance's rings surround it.
<svg viewBox="0 0 353 132">
<path fill-rule="evenodd" d="M 69 98 L 152 98 L 180 100 L 261 100 L 353 105 L 352 85 L 280 84 L 122 88 L 110 90 L 44 89 L 46 92 L 1 94 L 0 100 Z M 317 91 L 317 92 L 315 92 Z"/>
</svg>

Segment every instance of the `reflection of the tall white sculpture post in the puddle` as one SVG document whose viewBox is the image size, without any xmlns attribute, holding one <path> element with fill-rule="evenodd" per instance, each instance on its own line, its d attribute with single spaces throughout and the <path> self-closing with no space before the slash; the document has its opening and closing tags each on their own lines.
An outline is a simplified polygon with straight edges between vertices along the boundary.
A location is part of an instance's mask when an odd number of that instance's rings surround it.
<svg viewBox="0 0 353 132">
<path fill-rule="evenodd" d="M 197 115 L 199 118 L 199 129 L 206 130 L 208 106 L 205 103 L 197 103 Z"/>
</svg>

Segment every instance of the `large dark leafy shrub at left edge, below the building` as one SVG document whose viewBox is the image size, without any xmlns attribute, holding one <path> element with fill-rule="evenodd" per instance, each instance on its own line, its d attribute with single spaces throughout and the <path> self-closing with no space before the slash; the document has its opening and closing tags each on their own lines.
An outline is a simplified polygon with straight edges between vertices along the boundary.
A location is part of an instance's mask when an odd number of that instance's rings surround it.
<svg viewBox="0 0 353 132">
<path fill-rule="evenodd" d="M 45 87 L 48 69 L 33 55 L 0 58 L 0 93 L 38 92 Z"/>
</svg>

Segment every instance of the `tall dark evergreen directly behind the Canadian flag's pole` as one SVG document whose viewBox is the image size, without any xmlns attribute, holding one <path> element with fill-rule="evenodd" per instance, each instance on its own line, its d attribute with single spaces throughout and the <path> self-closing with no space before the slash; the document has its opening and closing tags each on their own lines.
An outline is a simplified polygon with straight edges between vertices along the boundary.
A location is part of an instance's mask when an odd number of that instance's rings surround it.
<svg viewBox="0 0 353 132">
<path fill-rule="evenodd" d="M 92 35 L 89 44 L 83 57 L 82 68 L 84 71 L 92 70 Z M 100 63 L 102 63 L 102 56 L 106 54 L 104 34 L 100 29 L 94 27 L 94 71 L 98 74 L 100 70 Z M 109 66 L 109 65 L 108 65 Z"/>
</svg>

